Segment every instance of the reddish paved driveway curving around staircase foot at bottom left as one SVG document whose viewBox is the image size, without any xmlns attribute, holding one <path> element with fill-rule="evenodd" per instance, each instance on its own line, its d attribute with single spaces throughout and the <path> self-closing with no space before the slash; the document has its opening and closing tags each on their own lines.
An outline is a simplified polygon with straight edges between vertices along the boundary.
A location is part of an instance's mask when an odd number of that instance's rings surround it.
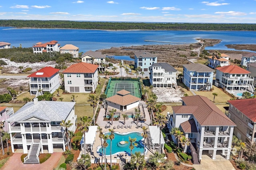
<svg viewBox="0 0 256 170">
<path fill-rule="evenodd" d="M 52 156 L 42 164 L 23 164 L 20 159 L 22 154 L 23 153 L 14 153 L 1 170 L 52 170 L 56 168 L 62 156 L 62 152 L 54 152 Z"/>
</svg>

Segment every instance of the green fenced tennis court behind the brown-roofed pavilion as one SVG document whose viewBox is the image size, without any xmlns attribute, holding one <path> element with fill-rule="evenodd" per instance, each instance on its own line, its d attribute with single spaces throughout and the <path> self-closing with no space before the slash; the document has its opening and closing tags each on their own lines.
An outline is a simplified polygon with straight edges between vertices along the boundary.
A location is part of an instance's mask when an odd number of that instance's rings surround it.
<svg viewBox="0 0 256 170">
<path fill-rule="evenodd" d="M 110 80 L 106 89 L 107 97 L 116 95 L 120 90 L 127 90 L 130 94 L 141 98 L 140 84 L 138 80 Z"/>
</svg>

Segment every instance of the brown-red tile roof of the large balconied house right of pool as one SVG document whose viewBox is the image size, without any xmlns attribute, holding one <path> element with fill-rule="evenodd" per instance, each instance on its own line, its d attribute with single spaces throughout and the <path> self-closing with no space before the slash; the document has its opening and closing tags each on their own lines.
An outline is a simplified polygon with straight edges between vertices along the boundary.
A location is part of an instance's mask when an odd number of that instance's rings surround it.
<svg viewBox="0 0 256 170">
<path fill-rule="evenodd" d="M 190 106 L 192 115 L 203 126 L 236 126 L 217 106 L 204 96 L 182 97 L 185 106 Z M 195 107 L 197 107 L 195 109 Z M 189 107 L 187 107 L 188 109 Z M 184 111 L 185 112 L 185 111 Z M 175 113 L 175 112 L 174 112 Z"/>
</svg>

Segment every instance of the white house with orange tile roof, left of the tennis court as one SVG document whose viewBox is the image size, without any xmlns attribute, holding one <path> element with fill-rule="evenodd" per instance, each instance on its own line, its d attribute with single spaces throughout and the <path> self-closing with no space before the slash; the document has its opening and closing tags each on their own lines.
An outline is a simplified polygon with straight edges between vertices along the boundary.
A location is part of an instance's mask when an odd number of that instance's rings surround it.
<svg viewBox="0 0 256 170">
<path fill-rule="evenodd" d="M 98 65 L 77 63 L 69 66 L 64 74 L 65 91 L 71 93 L 94 92 L 98 85 Z"/>
</svg>

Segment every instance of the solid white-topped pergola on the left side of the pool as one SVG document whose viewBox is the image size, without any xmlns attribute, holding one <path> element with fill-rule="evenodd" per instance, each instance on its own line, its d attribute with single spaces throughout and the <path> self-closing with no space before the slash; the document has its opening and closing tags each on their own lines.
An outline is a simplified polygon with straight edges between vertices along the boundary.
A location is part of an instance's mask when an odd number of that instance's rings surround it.
<svg viewBox="0 0 256 170">
<path fill-rule="evenodd" d="M 97 134 L 98 126 L 89 126 L 89 130 L 85 133 L 85 142 L 84 142 L 84 135 L 80 141 L 81 149 L 84 149 L 83 145 L 90 144 L 93 148 L 93 144 L 95 142 L 96 134 Z"/>
</svg>

